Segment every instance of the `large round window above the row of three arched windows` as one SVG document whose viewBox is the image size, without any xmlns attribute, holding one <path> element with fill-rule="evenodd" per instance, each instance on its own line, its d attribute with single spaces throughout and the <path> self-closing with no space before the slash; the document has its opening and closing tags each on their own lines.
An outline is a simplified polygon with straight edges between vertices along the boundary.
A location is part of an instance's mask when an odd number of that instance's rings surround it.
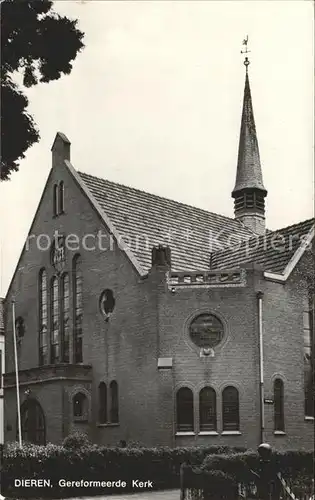
<svg viewBox="0 0 315 500">
<path fill-rule="evenodd" d="M 224 334 L 221 321 L 212 314 L 200 314 L 189 327 L 190 338 L 198 347 L 217 346 Z"/>
</svg>

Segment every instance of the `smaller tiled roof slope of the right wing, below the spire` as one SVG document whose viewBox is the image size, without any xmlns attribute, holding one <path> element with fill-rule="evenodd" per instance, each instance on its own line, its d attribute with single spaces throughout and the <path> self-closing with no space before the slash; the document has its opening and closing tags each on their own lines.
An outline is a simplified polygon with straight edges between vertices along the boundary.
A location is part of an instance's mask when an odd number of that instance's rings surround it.
<svg viewBox="0 0 315 500">
<path fill-rule="evenodd" d="M 263 236 L 250 238 L 247 242 L 235 244 L 234 248 L 226 248 L 216 252 L 212 257 L 213 269 L 224 269 L 256 262 L 265 271 L 283 274 L 295 251 L 307 235 L 314 219 L 309 219 L 293 226 L 277 231 L 267 232 Z"/>
</svg>

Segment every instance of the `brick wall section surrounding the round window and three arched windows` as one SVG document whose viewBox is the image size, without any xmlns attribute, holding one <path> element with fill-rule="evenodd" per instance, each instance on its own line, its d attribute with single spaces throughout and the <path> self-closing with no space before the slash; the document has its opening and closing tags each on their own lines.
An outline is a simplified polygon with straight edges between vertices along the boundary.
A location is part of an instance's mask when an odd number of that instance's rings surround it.
<svg viewBox="0 0 315 500">
<path fill-rule="evenodd" d="M 247 271 L 244 288 L 180 289 L 165 292 L 160 299 L 160 356 L 173 358 L 174 392 L 192 389 L 195 403 L 195 434 L 177 436 L 176 445 L 228 444 L 254 447 L 259 440 L 258 330 L 255 294 L 256 271 Z M 225 334 L 213 358 L 200 358 L 188 327 L 199 313 L 213 313 L 223 323 Z M 199 434 L 199 391 L 211 386 L 217 393 L 218 435 Z M 222 431 L 222 390 L 233 385 L 240 397 L 240 435 Z M 170 413 L 175 427 L 175 401 Z"/>
</svg>

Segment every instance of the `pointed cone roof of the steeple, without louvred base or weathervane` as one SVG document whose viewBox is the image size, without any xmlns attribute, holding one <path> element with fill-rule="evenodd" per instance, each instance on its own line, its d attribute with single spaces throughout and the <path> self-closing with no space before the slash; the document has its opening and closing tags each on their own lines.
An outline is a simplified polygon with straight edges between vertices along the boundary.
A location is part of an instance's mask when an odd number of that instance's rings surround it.
<svg viewBox="0 0 315 500">
<path fill-rule="evenodd" d="M 248 62 L 248 60 L 247 60 Z M 249 62 L 248 62 L 249 64 Z M 252 105 L 252 97 L 248 78 L 248 64 L 246 64 L 243 113 L 238 148 L 236 182 L 232 195 L 243 189 L 260 189 L 267 194 L 264 187 L 260 165 L 258 140 Z"/>
</svg>

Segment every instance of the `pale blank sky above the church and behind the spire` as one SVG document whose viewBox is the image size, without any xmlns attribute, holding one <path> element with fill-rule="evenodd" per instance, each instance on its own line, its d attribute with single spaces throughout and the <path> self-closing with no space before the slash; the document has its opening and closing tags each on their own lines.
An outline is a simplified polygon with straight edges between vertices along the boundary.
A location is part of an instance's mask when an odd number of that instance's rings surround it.
<svg viewBox="0 0 315 500">
<path fill-rule="evenodd" d="M 54 4 L 78 19 L 86 47 L 70 75 L 27 90 L 41 139 L 0 184 L 1 296 L 45 186 L 57 131 L 70 139 L 77 170 L 233 217 L 246 35 L 267 227 L 313 216 L 311 1 Z"/>
</svg>

